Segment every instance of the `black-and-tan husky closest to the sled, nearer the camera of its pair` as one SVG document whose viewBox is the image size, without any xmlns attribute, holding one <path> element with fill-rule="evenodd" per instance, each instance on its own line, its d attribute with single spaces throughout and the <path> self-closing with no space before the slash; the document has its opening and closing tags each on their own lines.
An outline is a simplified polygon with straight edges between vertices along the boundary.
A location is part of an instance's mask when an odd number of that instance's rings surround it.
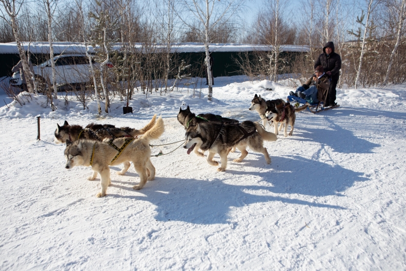
<svg viewBox="0 0 406 271">
<path fill-rule="evenodd" d="M 275 106 L 274 104 L 267 104 L 269 106 L 266 107 L 265 117 L 268 121 L 272 120 L 275 126 L 275 134 L 278 134 L 278 131 L 281 130 L 282 125 L 284 127 L 284 137 L 287 137 L 287 125 L 290 125 L 290 132 L 289 135 L 293 134 L 293 126 L 295 125 L 296 114 L 295 112 L 303 111 L 307 108 L 307 104 L 295 108 L 290 103 L 285 103 L 284 106 L 279 107 Z M 281 123 L 279 125 L 279 129 L 277 129 L 277 123 Z"/>
</svg>

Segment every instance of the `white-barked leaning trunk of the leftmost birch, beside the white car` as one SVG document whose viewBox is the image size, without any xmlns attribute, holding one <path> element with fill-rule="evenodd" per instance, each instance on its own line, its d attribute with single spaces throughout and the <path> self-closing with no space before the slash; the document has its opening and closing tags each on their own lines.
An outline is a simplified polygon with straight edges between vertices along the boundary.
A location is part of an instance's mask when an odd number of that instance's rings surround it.
<svg viewBox="0 0 406 271">
<path fill-rule="evenodd" d="M 9 23 L 9 24 L 11 25 L 11 27 L 13 29 L 14 39 L 16 40 L 16 43 L 17 43 L 17 48 L 18 48 L 20 59 L 22 62 L 22 69 L 24 71 L 24 75 L 26 76 L 25 81 L 27 82 L 28 92 L 31 92 L 31 93 L 35 92 L 35 94 L 38 95 L 36 89 L 33 88 L 33 85 L 31 84 L 30 78 L 29 78 L 29 75 L 31 75 L 31 70 L 29 68 L 28 60 L 27 60 L 27 57 L 25 56 L 25 52 L 24 52 L 24 47 L 23 47 L 21 39 L 20 39 L 20 29 L 19 29 L 19 25 L 17 22 L 17 13 L 18 12 L 16 12 L 16 1 L 15 0 L 0 0 L 0 1 L 3 4 L 4 10 L 6 11 L 7 15 L 10 17 L 11 23 Z M 34 78 L 33 82 L 35 82 L 35 78 Z"/>
</svg>

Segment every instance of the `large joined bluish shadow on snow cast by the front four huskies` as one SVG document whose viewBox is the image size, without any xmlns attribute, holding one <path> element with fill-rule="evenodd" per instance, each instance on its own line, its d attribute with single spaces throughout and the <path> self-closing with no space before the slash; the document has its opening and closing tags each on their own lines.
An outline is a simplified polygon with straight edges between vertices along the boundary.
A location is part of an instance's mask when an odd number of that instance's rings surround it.
<svg viewBox="0 0 406 271">
<path fill-rule="evenodd" d="M 233 162 L 231 162 L 233 163 Z M 259 161 L 248 161 L 250 164 L 262 164 Z M 207 165 L 208 166 L 208 165 Z M 253 165 L 255 167 L 255 165 Z M 208 166 L 209 167 L 209 166 Z M 229 211 L 232 207 L 261 202 L 282 202 L 284 204 L 307 205 L 317 208 L 345 209 L 340 206 L 328 205 L 297 199 L 297 195 L 307 196 L 342 196 L 339 192 L 351 187 L 356 181 L 365 181 L 364 173 L 354 172 L 340 166 L 330 166 L 325 163 L 308 160 L 302 157 L 273 157 L 272 164 L 265 172 L 247 172 L 227 170 L 225 173 L 236 175 L 242 182 L 244 177 L 256 176 L 255 185 L 230 185 L 227 176 L 211 181 L 182 178 L 157 177 L 148 182 L 140 190 L 142 196 L 123 196 L 130 199 L 144 200 L 155 205 L 160 221 L 184 221 L 195 224 L 229 223 Z M 215 170 L 216 167 L 212 167 Z M 265 169 L 265 168 L 264 168 Z M 325 172 L 329 177 L 325 178 Z M 231 176 L 230 176 L 231 177 Z M 252 177 L 251 177 L 252 179 Z M 137 180 L 138 181 L 138 180 Z M 132 190 L 112 181 L 112 186 Z M 135 184 L 135 183 L 132 183 Z M 280 195 L 278 195 L 280 194 Z M 290 195 L 291 194 L 291 195 Z M 121 197 L 108 194 L 108 196 Z"/>
</svg>

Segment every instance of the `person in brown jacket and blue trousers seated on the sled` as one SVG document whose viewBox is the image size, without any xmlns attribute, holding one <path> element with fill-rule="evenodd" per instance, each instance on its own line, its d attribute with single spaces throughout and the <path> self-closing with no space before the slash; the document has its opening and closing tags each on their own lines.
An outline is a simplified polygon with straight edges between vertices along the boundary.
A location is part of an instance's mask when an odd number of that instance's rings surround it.
<svg viewBox="0 0 406 271">
<path fill-rule="evenodd" d="M 307 82 L 299 86 L 295 92 L 290 91 L 290 96 L 296 96 L 306 100 L 310 104 L 319 103 L 319 100 L 324 101 L 325 91 L 330 85 L 330 79 L 324 72 L 322 66 L 317 66 L 313 77 L 310 77 Z"/>
</svg>

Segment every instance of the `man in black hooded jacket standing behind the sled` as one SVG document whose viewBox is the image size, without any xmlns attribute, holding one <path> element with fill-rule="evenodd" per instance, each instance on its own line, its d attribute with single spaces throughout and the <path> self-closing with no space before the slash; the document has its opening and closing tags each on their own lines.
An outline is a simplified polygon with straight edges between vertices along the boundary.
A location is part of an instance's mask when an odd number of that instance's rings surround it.
<svg viewBox="0 0 406 271">
<path fill-rule="evenodd" d="M 330 87 L 327 92 L 327 99 L 325 100 L 325 107 L 337 105 L 336 101 L 336 87 L 340 79 L 341 57 L 334 52 L 334 43 L 327 42 L 323 47 L 323 54 L 320 54 L 317 61 L 314 63 L 314 68 L 322 65 L 325 73 L 331 76 Z"/>
</svg>

